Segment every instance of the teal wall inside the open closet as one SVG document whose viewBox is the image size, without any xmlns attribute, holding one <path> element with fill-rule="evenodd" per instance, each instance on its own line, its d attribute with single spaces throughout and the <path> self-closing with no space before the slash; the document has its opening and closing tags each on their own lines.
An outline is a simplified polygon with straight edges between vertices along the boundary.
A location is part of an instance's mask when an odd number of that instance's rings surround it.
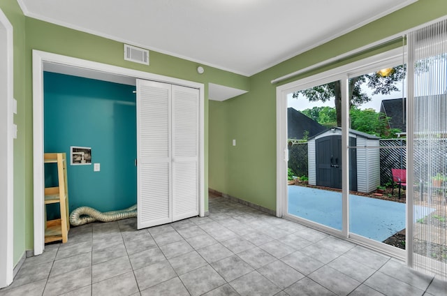
<svg viewBox="0 0 447 296">
<path fill-rule="evenodd" d="M 45 72 L 44 151 L 67 154 L 70 212 L 88 206 L 100 212 L 137 200 L 135 86 Z M 70 147 L 91 147 L 91 165 L 71 165 Z M 94 172 L 93 163 L 101 170 Z M 45 165 L 45 186 L 57 183 L 55 165 Z M 59 216 L 47 206 L 47 219 Z"/>
</svg>

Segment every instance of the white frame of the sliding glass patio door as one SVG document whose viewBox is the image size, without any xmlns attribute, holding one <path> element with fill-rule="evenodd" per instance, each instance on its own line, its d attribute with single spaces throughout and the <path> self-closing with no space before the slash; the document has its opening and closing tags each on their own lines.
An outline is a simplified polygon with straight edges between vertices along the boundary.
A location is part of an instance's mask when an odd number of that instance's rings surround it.
<svg viewBox="0 0 447 296">
<path fill-rule="evenodd" d="M 405 48 L 397 48 L 381 54 L 376 54 L 373 57 L 368 57 L 359 61 L 355 61 L 344 66 L 318 73 L 309 77 L 304 77 L 300 80 L 295 80 L 287 84 L 277 87 L 277 216 L 284 217 L 293 221 L 298 221 L 304 225 L 316 228 L 323 232 L 327 232 L 337 237 L 352 240 L 357 244 L 367 246 L 369 249 L 381 251 L 395 258 L 405 259 L 406 253 L 404 250 L 397 249 L 372 239 L 361 237 L 349 232 L 349 102 L 348 102 L 348 87 L 347 82 L 349 78 L 356 77 L 374 71 L 377 68 L 386 68 L 388 66 L 395 66 L 406 62 L 404 60 Z M 328 82 L 341 81 L 342 86 L 342 230 L 335 230 L 328 228 L 307 219 L 302 219 L 297 216 L 288 214 L 288 187 L 287 187 L 287 162 L 288 162 L 288 147 L 287 147 L 287 95 L 294 91 L 307 89 Z"/>
</svg>

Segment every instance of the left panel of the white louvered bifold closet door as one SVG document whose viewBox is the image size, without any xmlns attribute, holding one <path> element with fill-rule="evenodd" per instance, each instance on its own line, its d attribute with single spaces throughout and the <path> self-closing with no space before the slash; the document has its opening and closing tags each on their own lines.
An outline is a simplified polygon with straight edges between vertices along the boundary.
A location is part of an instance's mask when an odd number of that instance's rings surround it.
<svg viewBox="0 0 447 296">
<path fill-rule="evenodd" d="M 172 221 L 171 85 L 137 80 L 138 229 Z"/>
</svg>

